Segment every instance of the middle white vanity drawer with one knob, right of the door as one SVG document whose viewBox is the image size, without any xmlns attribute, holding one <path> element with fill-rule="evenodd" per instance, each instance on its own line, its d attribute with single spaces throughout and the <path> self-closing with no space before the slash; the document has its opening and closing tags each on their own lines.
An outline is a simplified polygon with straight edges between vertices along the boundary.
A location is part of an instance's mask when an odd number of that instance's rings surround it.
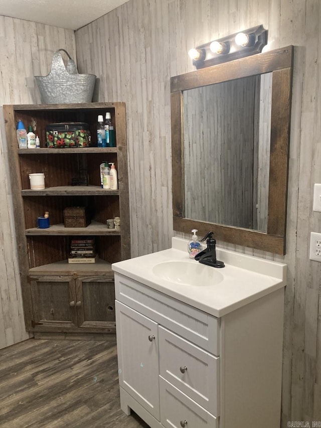
<svg viewBox="0 0 321 428">
<path fill-rule="evenodd" d="M 186 395 L 219 415 L 219 358 L 158 326 L 159 373 Z"/>
</svg>

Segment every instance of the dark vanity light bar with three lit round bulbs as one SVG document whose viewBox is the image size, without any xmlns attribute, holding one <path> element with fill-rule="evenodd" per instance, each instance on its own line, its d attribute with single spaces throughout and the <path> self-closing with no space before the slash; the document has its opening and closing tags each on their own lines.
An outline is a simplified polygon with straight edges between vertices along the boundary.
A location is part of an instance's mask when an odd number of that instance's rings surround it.
<svg viewBox="0 0 321 428">
<path fill-rule="evenodd" d="M 262 25 L 197 46 L 189 51 L 197 69 L 262 52 L 267 30 Z"/>
</svg>

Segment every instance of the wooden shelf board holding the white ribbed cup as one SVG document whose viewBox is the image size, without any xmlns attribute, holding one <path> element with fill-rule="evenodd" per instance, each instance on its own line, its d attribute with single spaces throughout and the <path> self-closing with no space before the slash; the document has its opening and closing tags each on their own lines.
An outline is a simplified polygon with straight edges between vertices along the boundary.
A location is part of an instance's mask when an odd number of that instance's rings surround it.
<svg viewBox="0 0 321 428">
<path fill-rule="evenodd" d="M 46 187 L 44 190 L 25 189 L 21 194 L 22 196 L 111 196 L 119 195 L 119 190 L 102 189 L 100 186 L 56 186 Z"/>
</svg>

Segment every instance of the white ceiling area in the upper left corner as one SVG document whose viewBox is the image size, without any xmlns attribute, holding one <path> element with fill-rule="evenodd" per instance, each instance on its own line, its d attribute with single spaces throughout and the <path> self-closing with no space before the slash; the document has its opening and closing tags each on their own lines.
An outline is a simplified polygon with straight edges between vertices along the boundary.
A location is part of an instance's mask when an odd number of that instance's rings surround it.
<svg viewBox="0 0 321 428">
<path fill-rule="evenodd" d="M 0 0 L 0 15 L 78 30 L 127 2 L 128 0 Z"/>
</svg>

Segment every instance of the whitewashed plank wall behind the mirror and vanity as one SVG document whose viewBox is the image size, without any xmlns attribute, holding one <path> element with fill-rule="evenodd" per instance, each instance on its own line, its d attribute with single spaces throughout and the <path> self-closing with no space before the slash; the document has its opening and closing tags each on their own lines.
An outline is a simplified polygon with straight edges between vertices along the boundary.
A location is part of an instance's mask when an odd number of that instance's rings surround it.
<svg viewBox="0 0 321 428">
<path fill-rule="evenodd" d="M 80 71 L 100 79 L 99 101 L 125 101 L 132 256 L 170 246 L 170 77 L 192 71 L 191 47 L 263 24 L 267 49 L 295 45 L 287 253 L 227 248 L 288 265 L 282 428 L 321 421 L 321 264 L 308 258 L 313 183 L 321 182 L 319 0 L 129 0 L 76 32 Z M 273 316 L 273 314 L 271 314 Z"/>
</svg>

